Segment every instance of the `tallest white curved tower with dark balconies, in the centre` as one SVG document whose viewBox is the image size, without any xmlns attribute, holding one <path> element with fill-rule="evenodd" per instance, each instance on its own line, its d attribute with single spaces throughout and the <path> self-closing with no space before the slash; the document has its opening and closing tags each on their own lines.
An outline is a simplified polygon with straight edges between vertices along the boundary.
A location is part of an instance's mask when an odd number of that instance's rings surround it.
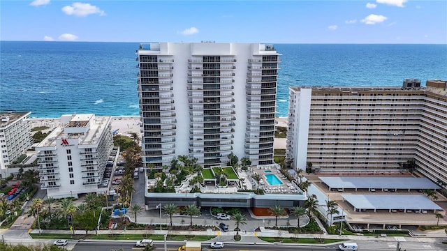
<svg viewBox="0 0 447 251">
<path fill-rule="evenodd" d="M 279 54 L 258 43 L 149 43 L 138 54 L 142 161 L 273 163 Z"/>
</svg>

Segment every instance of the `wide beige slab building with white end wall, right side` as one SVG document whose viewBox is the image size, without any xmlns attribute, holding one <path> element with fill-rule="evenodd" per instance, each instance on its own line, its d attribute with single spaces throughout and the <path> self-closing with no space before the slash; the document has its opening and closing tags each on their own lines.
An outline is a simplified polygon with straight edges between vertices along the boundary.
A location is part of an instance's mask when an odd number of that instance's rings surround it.
<svg viewBox="0 0 447 251">
<path fill-rule="evenodd" d="M 447 182 L 446 81 L 291 87 L 286 158 L 327 172 L 418 172 Z"/>
</svg>

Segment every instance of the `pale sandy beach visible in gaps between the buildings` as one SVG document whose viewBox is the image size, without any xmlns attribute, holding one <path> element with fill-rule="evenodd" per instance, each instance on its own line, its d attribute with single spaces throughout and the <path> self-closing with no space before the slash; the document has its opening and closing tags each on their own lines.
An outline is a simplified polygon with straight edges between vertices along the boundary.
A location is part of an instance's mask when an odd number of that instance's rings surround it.
<svg viewBox="0 0 447 251">
<path fill-rule="evenodd" d="M 49 129 L 44 130 L 47 132 L 52 128 L 56 128 L 59 125 L 58 119 L 29 119 L 31 121 L 31 128 L 38 126 L 47 126 Z M 277 126 L 287 126 L 287 118 L 277 118 Z M 140 117 L 138 116 L 112 116 L 112 131 L 116 131 L 117 135 L 130 136 L 135 132 L 141 136 L 140 131 Z M 274 139 L 274 149 L 286 149 L 286 139 Z"/>
</svg>

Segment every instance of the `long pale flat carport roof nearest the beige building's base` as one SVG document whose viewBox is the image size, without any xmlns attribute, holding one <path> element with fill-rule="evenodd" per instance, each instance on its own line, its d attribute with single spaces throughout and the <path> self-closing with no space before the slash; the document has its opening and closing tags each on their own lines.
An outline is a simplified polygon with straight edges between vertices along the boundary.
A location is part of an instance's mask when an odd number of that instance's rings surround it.
<svg viewBox="0 0 447 251">
<path fill-rule="evenodd" d="M 329 188 L 440 189 L 428 178 L 413 177 L 321 177 Z"/>
</svg>

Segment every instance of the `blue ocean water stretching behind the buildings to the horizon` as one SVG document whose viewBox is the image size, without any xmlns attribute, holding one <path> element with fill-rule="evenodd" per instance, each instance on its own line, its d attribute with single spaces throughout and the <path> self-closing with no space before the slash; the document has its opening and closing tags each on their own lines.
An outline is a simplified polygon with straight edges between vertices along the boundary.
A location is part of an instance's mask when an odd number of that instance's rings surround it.
<svg viewBox="0 0 447 251">
<path fill-rule="evenodd" d="M 139 43 L 0 42 L 0 111 L 138 116 Z M 288 86 L 400 86 L 447 79 L 447 45 L 277 44 L 278 116 Z"/>
</svg>

